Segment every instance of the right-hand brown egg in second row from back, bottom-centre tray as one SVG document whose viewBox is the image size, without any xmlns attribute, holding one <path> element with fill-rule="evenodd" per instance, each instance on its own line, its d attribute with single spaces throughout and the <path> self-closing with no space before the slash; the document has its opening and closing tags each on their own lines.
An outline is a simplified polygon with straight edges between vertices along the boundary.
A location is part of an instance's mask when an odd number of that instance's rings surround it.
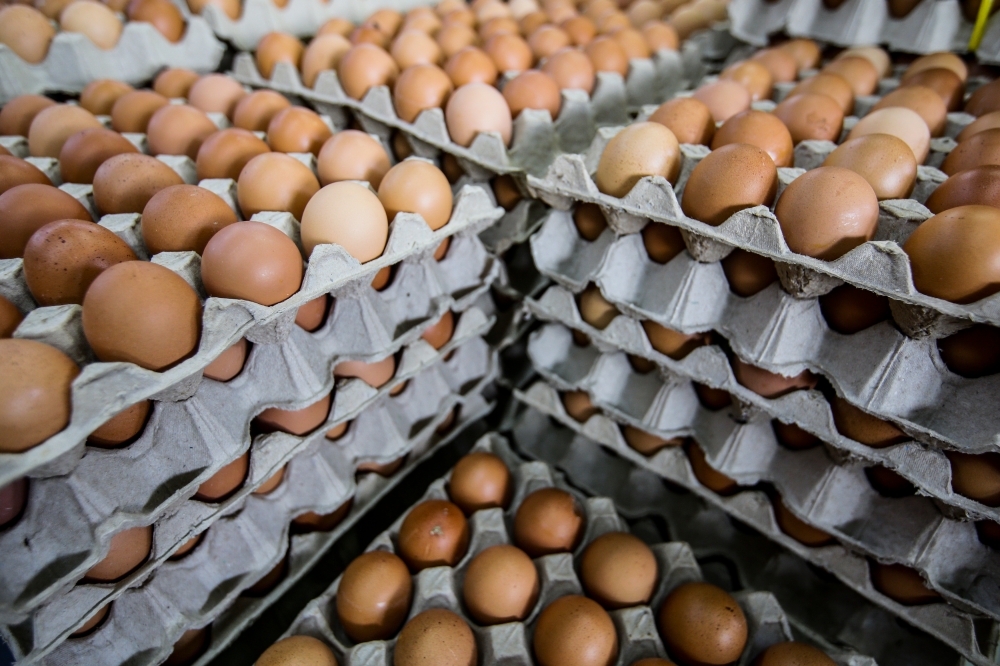
<svg viewBox="0 0 1000 666">
<path fill-rule="evenodd" d="M 585 518 L 565 490 L 541 488 L 524 498 L 514 516 L 514 543 L 531 557 L 565 553 L 583 537 Z"/>
</svg>

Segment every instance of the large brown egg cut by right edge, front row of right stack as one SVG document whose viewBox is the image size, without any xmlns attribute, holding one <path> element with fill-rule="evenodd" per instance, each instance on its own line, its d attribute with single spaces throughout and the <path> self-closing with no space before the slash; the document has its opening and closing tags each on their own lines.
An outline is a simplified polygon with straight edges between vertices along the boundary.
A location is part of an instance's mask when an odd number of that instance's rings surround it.
<svg viewBox="0 0 1000 666">
<path fill-rule="evenodd" d="M 23 187 L 23 186 L 22 186 Z M 903 245 L 913 284 L 928 296 L 973 303 L 1000 291 L 1000 210 L 959 206 L 927 220 Z"/>
</svg>

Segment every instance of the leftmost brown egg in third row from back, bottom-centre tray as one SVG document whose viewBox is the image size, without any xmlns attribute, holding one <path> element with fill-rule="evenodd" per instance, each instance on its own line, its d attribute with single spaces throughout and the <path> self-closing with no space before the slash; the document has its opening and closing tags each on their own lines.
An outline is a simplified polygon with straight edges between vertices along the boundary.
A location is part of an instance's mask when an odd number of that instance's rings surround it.
<svg viewBox="0 0 1000 666">
<path fill-rule="evenodd" d="M 337 618 L 355 642 L 388 640 L 403 625 L 412 599 L 413 583 L 403 560 L 373 550 L 344 570 L 337 587 Z"/>
</svg>

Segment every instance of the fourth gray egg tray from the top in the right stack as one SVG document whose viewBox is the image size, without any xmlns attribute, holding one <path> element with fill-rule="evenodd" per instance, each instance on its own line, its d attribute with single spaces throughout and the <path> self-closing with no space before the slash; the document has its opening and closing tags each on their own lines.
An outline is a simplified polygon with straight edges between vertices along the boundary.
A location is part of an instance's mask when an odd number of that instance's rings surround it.
<svg viewBox="0 0 1000 666">
<path fill-rule="evenodd" d="M 533 333 L 528 355 L 552 384 L 528 391 L 547 411 L 569 418 L 556 390 L 582 390 L 609 415 L 592 426 L 603 440 L 624 445 L 622 436 L 612 433 L 615 422 L 664 438 L 693 437 L 712 467 L 744 486 L 773 485 L 793 514 L 845 548 L 915 568 L 964 612 L 1000 617 L 995 591 L 1000 554 L 979 542 L 973 523 L 947 517 L 931 498 L 882 497 L 865 478 L 863 462 L 845 459 L 835 449 L 789 451 L 778 444 L 769 414 L 737 408 L 741 422 L 734 423 L 727 414 L 701 406 L 689 381 L 659 372 L 640 374 L 621 352 L 576 347 L 565 328 L 550 325 Z M 662 457 L 673 462 L 661 466 L 677 467 L 685 456 L 674 447 Z"/>
</svg>

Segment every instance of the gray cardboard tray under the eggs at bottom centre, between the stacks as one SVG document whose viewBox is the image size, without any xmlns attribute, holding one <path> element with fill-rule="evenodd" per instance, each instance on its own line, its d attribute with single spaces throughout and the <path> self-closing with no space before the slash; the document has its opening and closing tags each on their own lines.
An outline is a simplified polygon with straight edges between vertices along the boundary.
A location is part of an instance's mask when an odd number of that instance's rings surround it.
<svg viewBox="0 0 1000 666">
<path fill-rule="evenodd" d="M 455 567 L 433 567 L 416 574 L 414 599 L 408 617 L 429 608 L 447 608 L 461 615 L 473 627 L 479 649 L 480 661 L 485 664 L 516 664 L 530 666 L 534 663 L 530 648 L 534 623 L 541 609 L 554 599 L 567 594 L 582 594 L 577 579 L 574 560 L 598 536 L 607 532 L 628 531 L 628 525 L 617 514 L 614 504 L 605 497 L 586 497 L 571 488 L 541 462 L 524 462 L 514 454 L 506 440 L 495 433 L 484 436 L 473 450 L 488 451 L 500 456 L 511 469 L 515 482 L 514 497 L 506 514 L 502 509 L 477 511 L 469 519 L 471 539 L 469 550 Z M 572 493 L 586 514 L 583 540 L 575 553 L 546 555 L 535 560 L 539 570 L 541 593 L 534 610 L 525 622 L 511 622 L 488 627 L 476 625 L 465 613 L 461 598 L 462 579 L 469 562 L 476 554 L 490 546 L 511 543 L 510 522 L 521 500 L 539 488 L 557 486 Z M 431 484 L 424 500 L 447 499 L 447 477 Z M 399 526 L 404 516 L 379 537 L 367 550 L 395 551 Z M 663 598 L 686 582 L 702 579 L 701 570 L 690 547 L 671 542 L 652 546 L 659 565 L 659 580 L 652 603 L 610 613 L 618 632 L 619 650 L 616 665 L 631 664 L 637 659 L 665 656 L 663 644 L 656 629 L 656 612 Z M 389 666 L 395 640 L 370 641 L 354 645 L 347 638 L 337 620 L 336 594 L 340 578 L 302 610 L 285 633 L 314 636 L 333 648 L 340 663 L 346 666 L 368 664 Z M 749 638 L 740 665 L 749 664 L 760 651 L 776 642 L 791 639 L 788 620 L 772 595 L 766 592 L 737 592 L 735 595 L 747 616 Z M 851 666 L 873 664 L 870 659 L 857 655 L 835 655 L 837 663 Z"/>
</svg>

